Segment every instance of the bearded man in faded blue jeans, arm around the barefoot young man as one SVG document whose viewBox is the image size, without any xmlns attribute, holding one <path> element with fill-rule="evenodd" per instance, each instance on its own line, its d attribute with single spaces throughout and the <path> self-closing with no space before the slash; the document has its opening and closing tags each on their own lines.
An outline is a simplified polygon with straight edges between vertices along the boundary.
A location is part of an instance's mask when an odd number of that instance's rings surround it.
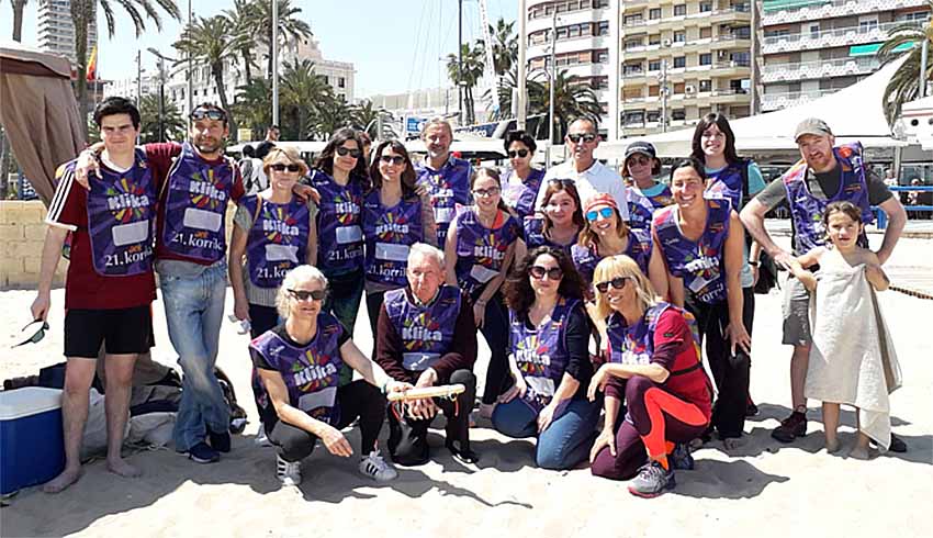
<svg viewBox="0 0 933 538">
<path fill-rule="evenodd" d="M 184 372 L 175 448 L 199 463 L 231 450 L 229 406 L 214 372 L 227 285 L 224 214 L 244 195 L 239 169 L 223 154 L 228 134 L 226 112 L 200 104 L 191 112 L 189 142 L 145 146 L 160 187 L 156 271 Z M 98 168 L 94 149 L 81 154 L 78 181 Z"/>
</svg>

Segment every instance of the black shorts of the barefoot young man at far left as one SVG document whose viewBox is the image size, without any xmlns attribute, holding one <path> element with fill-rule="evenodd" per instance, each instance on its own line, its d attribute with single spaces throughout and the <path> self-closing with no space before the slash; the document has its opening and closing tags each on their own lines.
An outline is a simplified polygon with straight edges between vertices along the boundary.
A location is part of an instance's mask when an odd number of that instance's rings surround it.
<svg viewBox="0 0 933 538">
<path fill-rule="evenodd" d="M 65 313 L 65 357 L 97 359 L 101 344 L 108 355 L 144 354 L 153 347 L 153 309 L 81 310 Z"/>
</svg>

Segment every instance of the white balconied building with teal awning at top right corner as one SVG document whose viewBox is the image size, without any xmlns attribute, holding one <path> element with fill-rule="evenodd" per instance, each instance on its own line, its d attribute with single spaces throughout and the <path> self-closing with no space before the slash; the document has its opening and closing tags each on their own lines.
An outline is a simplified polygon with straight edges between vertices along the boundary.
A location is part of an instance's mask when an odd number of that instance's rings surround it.
<svg viewBox="0 0 933 538">
<path fill-rule="evenodd" d="M 867 77 L 880 67 L 875 53 L 892 29 L 930 19 L 926 0 L 763 0 L 758 9 L 762 112 Z"/>
</svg>

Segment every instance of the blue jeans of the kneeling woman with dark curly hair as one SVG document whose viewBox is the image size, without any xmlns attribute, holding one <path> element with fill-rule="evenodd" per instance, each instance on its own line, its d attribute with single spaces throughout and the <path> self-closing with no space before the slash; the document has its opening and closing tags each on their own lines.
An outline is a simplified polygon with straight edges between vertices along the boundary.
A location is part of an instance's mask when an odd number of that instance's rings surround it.
<svg viewBox="0 0 933 538">
<path fill-rule="evenodd" d="M 496 405 L 493 427 L 513 438 L 538 437 L 535 461 L 542 469 L 564 470 L 575 467 L 589 456 L 596 438 L 596 422 L 602 402 L 573 397 L 558 408 L 548 429 L 538 434 L 538 413 L 520 397 Z M 558 413 L 561 413 L 558 416 Z"/>
</svg>

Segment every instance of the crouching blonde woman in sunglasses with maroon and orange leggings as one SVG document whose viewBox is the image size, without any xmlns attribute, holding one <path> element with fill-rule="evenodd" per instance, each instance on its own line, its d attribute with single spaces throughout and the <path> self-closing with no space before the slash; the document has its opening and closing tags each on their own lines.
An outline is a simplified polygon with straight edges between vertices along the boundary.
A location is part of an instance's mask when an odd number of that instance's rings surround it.
<svg viewBox="0 0 933 538">
<path fill-rule="evenodd" d="M 591 451 L 597 477 L 628 480 L 629 491 L 655 496 L 674 487 L 674 466 L 690 469 L 686 447 L 711 415 L 712 386 L 702 369 L 692 316 L 659 302 L 651 283 L 628 256 L 596 266 L 596 307 L 608 318 L 609 362 L 599 367 L 587 395 L 606 395 L 603 433 Z M 628 413 L 619 415 L 625 399 Z M 682 452 L 683 450 L 683 452 Z"/>
</svg>

